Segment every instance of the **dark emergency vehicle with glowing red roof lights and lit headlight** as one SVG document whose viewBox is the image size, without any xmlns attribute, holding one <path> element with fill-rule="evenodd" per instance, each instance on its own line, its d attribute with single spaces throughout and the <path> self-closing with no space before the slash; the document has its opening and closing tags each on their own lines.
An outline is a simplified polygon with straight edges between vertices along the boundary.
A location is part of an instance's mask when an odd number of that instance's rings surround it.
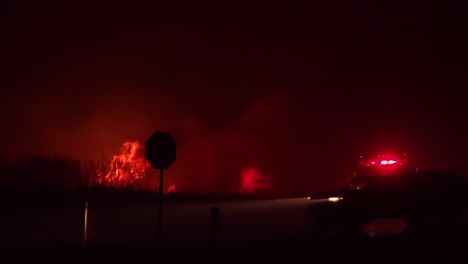
<svg viewBox="0 0 468 264">
<path fill-rule="evenodd" d="M 419 170 L 406 154 L 360 156 L 354 174 L 343 188 L 309 197 L 308 214 L 319 228 L 357 231 L 382 218 L 402 218 L 408 226 L 430 218 L 439 226 L 454 226 L 466 207 L 462 177 Z"/>
</svg>

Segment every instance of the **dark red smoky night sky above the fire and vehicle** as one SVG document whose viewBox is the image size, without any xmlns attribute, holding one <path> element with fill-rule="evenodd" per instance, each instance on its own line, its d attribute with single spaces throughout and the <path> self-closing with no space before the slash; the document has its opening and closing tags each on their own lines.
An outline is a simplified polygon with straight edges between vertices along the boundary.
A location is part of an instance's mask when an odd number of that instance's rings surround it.
<svg viewBox="0 0 468 264">
<path fill-rule="evenodd" d="M 0 155 L 96 158 L 161 129 L 183 188 L 246 166 L 329 188 L 370 151 L 466 172 L 462 2 L 4 0 Z"/>
</svg>

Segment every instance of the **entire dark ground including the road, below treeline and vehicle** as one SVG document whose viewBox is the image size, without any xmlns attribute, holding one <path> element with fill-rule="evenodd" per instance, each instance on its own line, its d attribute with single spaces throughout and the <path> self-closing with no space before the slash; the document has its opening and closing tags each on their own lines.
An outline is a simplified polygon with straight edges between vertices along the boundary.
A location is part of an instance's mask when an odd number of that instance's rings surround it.
<svg viewBox="0 0 468 264">
<path fill-rule="evenodd" d="M 461 226 L 453 230 L 431 228 L 428 222 L 424 230 L 404 232 L 403 221 L 381 219 L 366 226 L 361 234 L 320 234 L 313 219 L 305 214 L 310 202 L 306 198 L 166 198 L 161 242 L 156 239 L 156 200 L 90 201 L 86 245 L 84 202 L 80 199 L 49 200 L 41 206 L 47 199 L 38 198 L 31 206 L 5 206 L 1 220 L 3 255 L 24 262 L 43 259 L 80 263 L 468 260 L 466 215 L 460 218 Z M 221 209 L 216 243 L 210 229 L 213 206 Z"/>
</svg>

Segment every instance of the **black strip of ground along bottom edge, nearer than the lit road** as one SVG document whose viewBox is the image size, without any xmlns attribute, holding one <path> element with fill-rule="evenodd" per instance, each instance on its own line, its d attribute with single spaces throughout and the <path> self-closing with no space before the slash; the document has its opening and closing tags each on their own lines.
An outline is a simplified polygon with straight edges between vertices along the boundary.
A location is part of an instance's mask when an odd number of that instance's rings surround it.
<svg viewBox="0 0 468 264">
<path fill-rule="evenodd" d="M 466 230 L 391 237 L 287 237 L 237 246 L 4 245 L 4 263 L 466 263 Z M 2 261 L 3 262 L 3 261 Z"/>
</svg>

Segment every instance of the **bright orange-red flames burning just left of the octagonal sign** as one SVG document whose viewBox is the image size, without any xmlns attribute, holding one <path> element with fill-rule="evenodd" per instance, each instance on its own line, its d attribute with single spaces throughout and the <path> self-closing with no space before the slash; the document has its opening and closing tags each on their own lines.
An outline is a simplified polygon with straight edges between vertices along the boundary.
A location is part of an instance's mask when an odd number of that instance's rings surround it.
<svg viewBox="0 0 468 264">
<path fill-rule="evenodd" d="M 107 187 L 143 187 L 147 178 L 147 166 L 138 141 L 125 142 L 119 155 L 105 162 L 97 172 L 97 183 Z"/>
</svg>

